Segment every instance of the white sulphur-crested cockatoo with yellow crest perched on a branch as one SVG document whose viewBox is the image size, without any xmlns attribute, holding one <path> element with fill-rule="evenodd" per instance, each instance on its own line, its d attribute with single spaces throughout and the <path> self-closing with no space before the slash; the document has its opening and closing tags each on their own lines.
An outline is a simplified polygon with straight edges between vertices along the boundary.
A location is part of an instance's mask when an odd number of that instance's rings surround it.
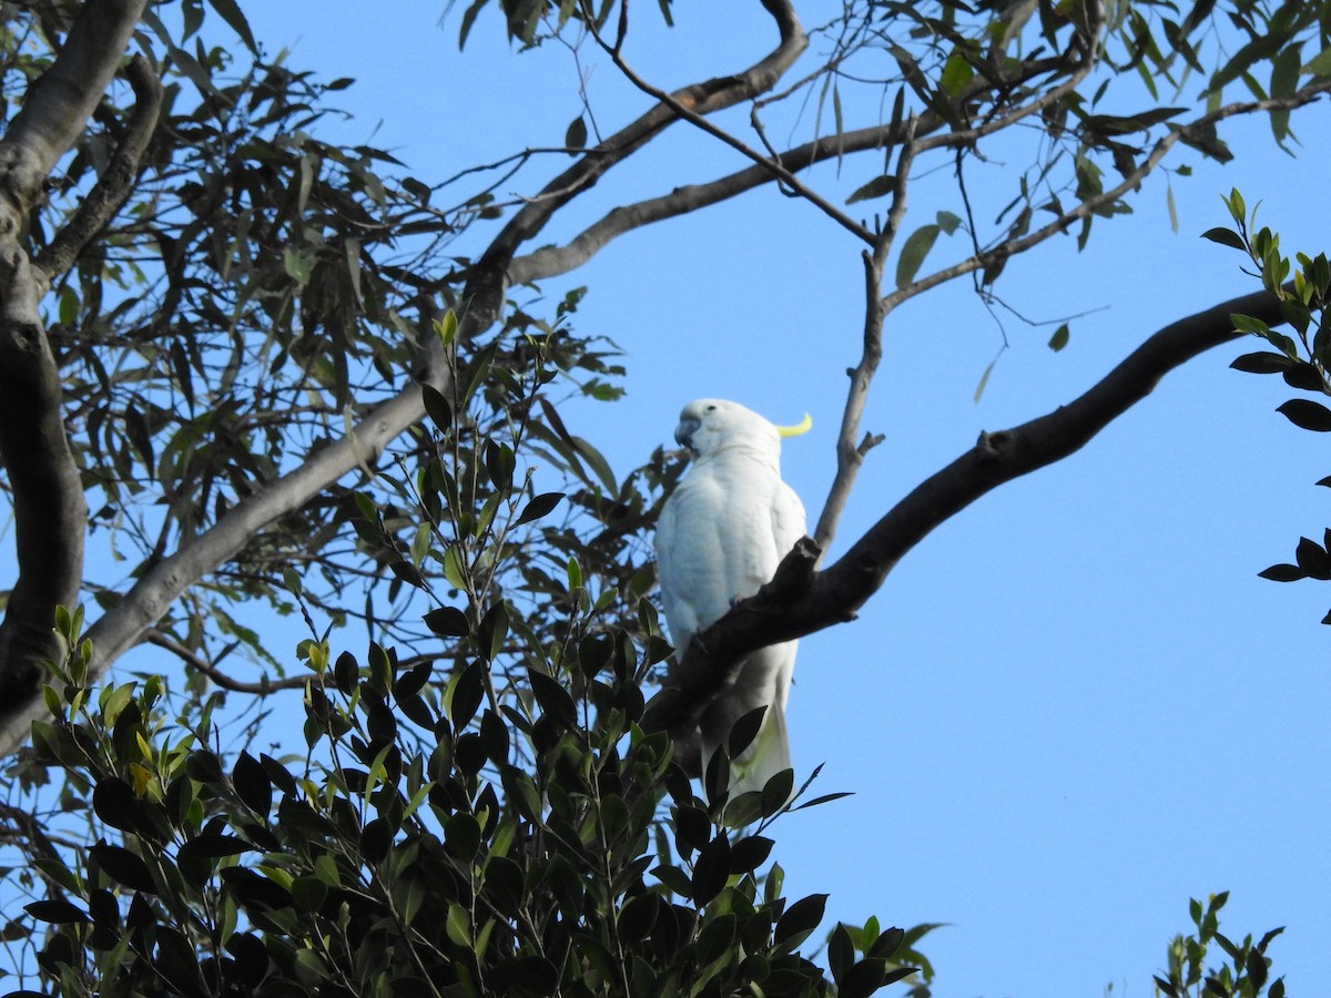
<svg viewBox="0 0 1331 998">
<path fill-rule="evenodd" d="M 723 399 L 689 402 L 675 439 L 692 466 L 662 508 L 656 570 L 675 655 L 693 635 L 772 580 L 776 566 L 804 536 L 804 506 L 781 480 L 781 436 L 808 428 L 777 427 Z M 795 641 L 761 648 L 740 665 L 735 683 L 701 716 L 701 762 L 725 744 L 735 723 L 760 707 L 763 727 L 731 766 L 731 798 L 761 790 L 791 768 L 785 697 L 795 669 Z"/>
</svg>

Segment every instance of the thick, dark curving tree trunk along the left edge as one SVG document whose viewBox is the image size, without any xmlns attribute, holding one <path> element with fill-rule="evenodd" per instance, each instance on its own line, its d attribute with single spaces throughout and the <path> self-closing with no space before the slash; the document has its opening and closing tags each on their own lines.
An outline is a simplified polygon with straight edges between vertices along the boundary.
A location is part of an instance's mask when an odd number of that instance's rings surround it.
<svg viewBox="0 0 1331 998">
<path fill-rule="evenodd" d="M 15 721 L 16 712 L 40 703 L 44 663 L 59 652 L 55 608 L 79 600 L 88 508 L 39 311 L 47 279 L 19 233 L 101 100 L 142 8 L 144 0 L 84 4 L 0 140 L 0 462 L 13 495 L 19 563 L 0 623 L 0 729 L 19 732 L 20 741 L 28 725 Z"/>
</svg>

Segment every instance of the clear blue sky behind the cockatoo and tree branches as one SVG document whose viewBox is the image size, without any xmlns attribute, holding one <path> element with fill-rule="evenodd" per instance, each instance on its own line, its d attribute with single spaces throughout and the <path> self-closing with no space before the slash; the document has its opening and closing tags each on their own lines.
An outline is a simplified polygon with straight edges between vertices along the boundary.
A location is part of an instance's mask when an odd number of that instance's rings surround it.
<svg viewBox="0 0 1331 998">
<path fill-rule="evenodd" d="M 357 77 L 337 94 L 355 114 L 345 137 L 391 149 L 435 182 L 559 145 L 580 110 L 571 55 L 511 53 L 494 11 L 459 53 L 463 7 L 443 28 L 442 0 L 374 15 L 341 0 L 248 12 L 270 52 L 293 49 L 295 68 Z M 816 24 L 841 5 L 799 7 Z M 769 44 L 756 0 L 675 8 L 673 33 L 628 47 L 664 85 L 733 71 Z M 635 12 L 643 27 L 658 20 L 655 4 Z M 761 33 L 745 40 L 751 28 Z M 603 129 L 643 106 L 607 59 L 587 49 L 582 71 Z M 1157 177 L 1135 214 L 1097 224 L 1085 253 L 1065 238 L 1010 263 L 1000 291 L 1026 314 L 1099 311 L 1074 322 L 1059 354 L 1046 347 L 1051 327 L 1006 321 L 1012 349 L 980 405 L 972 394 L 1002 334 L 978 302 L 958 286 L 894 314 L 865 426 L 885 442 L 837 550 L 981 430 L 1069 401 L 1153 330 L 1252 290 L 1236 253 L 1198 238 L 1227 221 L 1219 196 L 1231 185 L 1263 201 L 1287 248 L 1326 248 L 1324 117 L 1295 117 L 1298 160 L 1271 146 L 1262 121 L 1227 133 L 1239 158 L 1225 169 L 1181 157 L 1194 176 L 1174 182 L 1178 234 Z M 728 121 L 739 128 L 743 114 Z M 603 181 L 550 238 L 619 200 L 740 165 L 683 128 L 650 160 Z M 563 162 L 511 190 L 535 193 Z M 839 178 L 829 165 L 813 180 L 844 198 L 873 172 L 851 162 Z M 956 210 L 942 181 L 921 184 L 916 224 Z M 457 251 L 491 232 L 478 228 Z M 627 398 L 575 411 L 572 430 L 624 472 L 669 440 L 695 397 L 733 398 L 776 422 L 809 411 L 815 430 L 787 443 L 784 467 L 812 518 L 857 358 L 858 253 L 807 205 L 765 190 L 624 237 L 548 282 L 550 301 L 590 285 L 579 330 L 627 354 Z M 925 946 L 938 998 L 1094 998 L 1110 985 L 1149 995 L 1166 941 L 1187 927 L 1189 897 L 1218 890 L 1233 892 L 1230 934 L 1288 926 L 1271 954 L 1292 991 L 1331 977 L 1331 631 L 1318 624 L 1331 587 L 1256 578 L 1288 560 L 1300 532 L 1320 536 L 1331 492 L 1314 482 L 1331 472 L 1331 452 L 1274 413 L 1290 394 L 1280 383 L 1226 369 L 1244 349 L 1255 346 L 1193 362 L 1081 454 L 948 522 L 861 620 L 801 644 L 796 765 L 825 764 L 819 788 L 856 796 L 777 825 L 788 890 L 829 892 L 831 918 L 848 922 L 950 923 Z"/>
</svg>

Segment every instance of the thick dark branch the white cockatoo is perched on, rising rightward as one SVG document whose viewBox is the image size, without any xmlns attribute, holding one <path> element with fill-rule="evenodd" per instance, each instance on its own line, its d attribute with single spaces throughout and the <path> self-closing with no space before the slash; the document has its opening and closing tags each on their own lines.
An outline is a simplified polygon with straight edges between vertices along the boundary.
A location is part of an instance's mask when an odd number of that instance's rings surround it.
<svg viewBox="0 0 1331 998">
<path fill-rule="evenodd" d="M 711 699 L 733 681 L 743 656 L 853 620 L 897 562 L 940 523 L 1005 482 L 1069 456 L 1169 371 L 1239 337 L 1233 314 L 1271 326 L 1284 322 L 1276 297 L 1264 290 L 1179 319 L 1067 406 L 1012 430 L 981 434 L 974 447 L 917 486 L 825 571 L 813 572 L 817 548 L 801 542 L 772 583 L 695 639 L 652 701 L 646 724 L 689 735 Z"/>
</svg>

